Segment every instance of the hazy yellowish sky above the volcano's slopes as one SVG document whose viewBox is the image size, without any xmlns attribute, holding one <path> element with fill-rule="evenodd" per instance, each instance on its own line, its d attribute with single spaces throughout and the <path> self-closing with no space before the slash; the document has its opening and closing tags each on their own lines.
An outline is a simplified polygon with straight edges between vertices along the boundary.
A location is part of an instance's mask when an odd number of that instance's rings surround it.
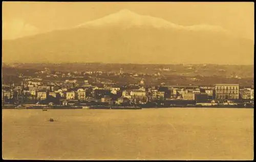
<svg viewBox="0 0 256 162">
<path fill-rule="evenodd" d="M 3 2 L 3 39 L 71 28 L 122 9 L 180 25 L 220 25 L 234 34 L 254 40 L 252 2 Z"/>
</svg>

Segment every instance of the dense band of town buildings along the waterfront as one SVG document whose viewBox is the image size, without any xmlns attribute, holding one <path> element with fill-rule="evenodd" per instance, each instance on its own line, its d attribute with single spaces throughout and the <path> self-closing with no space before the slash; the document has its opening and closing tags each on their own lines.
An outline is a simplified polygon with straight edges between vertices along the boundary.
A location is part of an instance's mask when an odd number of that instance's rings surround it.
<svg viewBox="0 0 256 162">
<path fill-rule="evenodd" d="M 142 79 L 138 84 L 118 87 L 113 83 L 93 85 L 88 80 L 78 83 L 76 79 L 59 84 L 42 80 L 24 80 L 20 85 L 3 85 L 3 103 L 46 103 L 69 105 L 74 102 L 98 102 L 117 105 L 165 102 L 170 100 L 193 100 L 200 103 L 235 102 L 254 100 L 254 87 L 238 84 L 214 86 L 146 86 Z"/>
</svg>

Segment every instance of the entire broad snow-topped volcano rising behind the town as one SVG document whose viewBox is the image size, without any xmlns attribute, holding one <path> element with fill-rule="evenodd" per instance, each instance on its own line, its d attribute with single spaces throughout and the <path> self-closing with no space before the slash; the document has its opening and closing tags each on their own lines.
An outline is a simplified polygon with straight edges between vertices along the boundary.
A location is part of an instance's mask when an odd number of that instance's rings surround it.
<svg viewBox="0 0 256 162">
<path fill-rule="evenodd" d="M 254 56 L 252 40 L 221 26 L 182 26 L 129 10 L 2 46 L 7 63 L 253 64 Z"/>
</svg>

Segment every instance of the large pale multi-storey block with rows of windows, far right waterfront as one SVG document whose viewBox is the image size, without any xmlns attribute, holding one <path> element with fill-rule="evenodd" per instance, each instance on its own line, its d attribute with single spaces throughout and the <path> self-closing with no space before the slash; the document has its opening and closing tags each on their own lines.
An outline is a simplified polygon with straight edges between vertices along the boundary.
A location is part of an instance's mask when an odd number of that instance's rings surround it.
<svg viewBox="0 0 256 162">
<path fill-rule="evenodd" d="M 239 84 L 215 85 L 216 99 L 239 99 Z"/>
</svg>

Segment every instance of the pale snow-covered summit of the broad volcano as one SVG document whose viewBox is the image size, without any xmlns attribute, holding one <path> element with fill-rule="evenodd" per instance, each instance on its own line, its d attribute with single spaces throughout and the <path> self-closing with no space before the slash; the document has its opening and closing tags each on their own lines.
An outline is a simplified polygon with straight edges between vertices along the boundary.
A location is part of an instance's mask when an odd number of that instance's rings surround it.
<svg viewBox="0 0 256 162">
<path fill-rule="evenodd" d="M 162 18 L 152 17 L 148 15 L 139 15 L 127 9 L 120 10 L 102 18 L 81 23 L 76 26 L 79 27 L 93 27 L 93 26 L 120 26 L 123 28 L 130 28 L 131 26 L 152 26 L 158 29 L 179 29 L 188 31 L 222 31 L 228 32 L 218 25 L 198 24 L 191 26 L 183 26 L 164 20 Z"/>
</svg>

